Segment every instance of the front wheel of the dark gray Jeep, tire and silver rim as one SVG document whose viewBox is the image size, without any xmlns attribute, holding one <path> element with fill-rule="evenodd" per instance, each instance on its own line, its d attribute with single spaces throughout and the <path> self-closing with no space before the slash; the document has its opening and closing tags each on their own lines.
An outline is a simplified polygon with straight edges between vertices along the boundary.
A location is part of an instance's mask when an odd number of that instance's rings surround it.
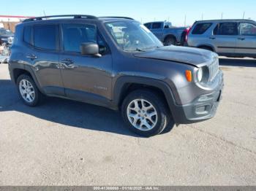
<svg viewBox="0 0 256 191">
<path fill-rule="evenodd" d="M 135 102 L 138 103 L 138 107 L 135 106 Z M 140 136 L 155 136 L 162 133 L 170 120 L 165 105 L 163 99 L 151 90 L 135 90 L 124 99 L 121 113 L 129 130 Z M 135 125 L 132 125 L 132 122 Z"/>
</svg>

